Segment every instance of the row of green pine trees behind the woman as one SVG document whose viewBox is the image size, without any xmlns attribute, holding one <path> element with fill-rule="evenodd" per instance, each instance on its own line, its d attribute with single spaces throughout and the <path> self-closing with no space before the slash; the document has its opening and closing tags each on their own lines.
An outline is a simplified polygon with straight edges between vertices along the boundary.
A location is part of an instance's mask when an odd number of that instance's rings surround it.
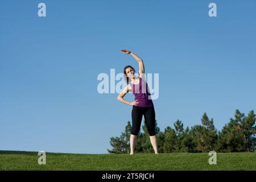
<svg viewBox="0 0 256 182">
<path fill-rule="evenodd" d="M 156 137 L 158 139 L 159 153 L 169 152 L 254 152 L 256 146 L 256 126 L 254 111 L 245 115 L 236 110 L 234 118 L 230 118 L 221 131 L 217 131 L 213 118 L 209 119 L 207 113 L 201 118 L 201 125 L 184 129 L 183 123 L 178 119 L 174 127 L 167 126 L 160 131 L 155 121 Z M 154 152 L 147 127 L 144 122 L 135 146 L 137 153 Z M 111 154 L 129 154 L 130 152 L 131 123 L 127 122 L 125 131 L 120 137 L 111 137 Z"/>
</svg>

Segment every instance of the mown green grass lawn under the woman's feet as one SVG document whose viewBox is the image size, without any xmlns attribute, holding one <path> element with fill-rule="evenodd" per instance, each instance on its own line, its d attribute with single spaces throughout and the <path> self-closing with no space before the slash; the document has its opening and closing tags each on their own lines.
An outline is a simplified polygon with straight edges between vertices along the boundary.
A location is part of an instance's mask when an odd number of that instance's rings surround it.
<svg viewBox="0 0 256 182">
<path fill-rule="evenodd" d="M 0 170 L 256 170 L 256 153 L 170 154 L 62 154 L 46 152 L 46 165 L 38 152 L 0 151 Z"/>
</svg>

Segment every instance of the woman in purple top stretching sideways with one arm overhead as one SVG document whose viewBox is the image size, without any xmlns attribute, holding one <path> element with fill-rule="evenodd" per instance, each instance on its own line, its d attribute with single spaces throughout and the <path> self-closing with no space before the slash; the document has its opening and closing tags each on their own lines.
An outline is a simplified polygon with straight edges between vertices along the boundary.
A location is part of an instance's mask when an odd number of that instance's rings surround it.
<svg viewBox="0 0 256 182">
<path fill-rule="evenodd" d="M 127 65 L 123 69 L 123 73 L 127 78 L 127 86 L 118 95 L 117 100 L 125 104 L 133 106 L 131 111 L 132 127 L 130 136 L 130 155 L 134 154 L 135 143 L 139 129 L 141 128 L 142 115 L 146 122 L 147 131 L 150 134 L 150 142 L 154 148 L 155 154 L 158 154 L 158 146 L 155 135 L 155 109 L 151 100 L 150 93 L 148 92 L 148 86 L 144 77 L 144 64 L 143 60 L 139 58 L 135 53 L 126 49 L 121 50 L 125 54 L 130 54 L 139 63 L 139 77 L 135 77 L 135 69 L 130 65 Z M 129 83 L 129 79 L 130 84 Z M 133 92 L 135 99 L 133 102 L 129 102 L 123 99 L 127 92 Z"/>
</svg>

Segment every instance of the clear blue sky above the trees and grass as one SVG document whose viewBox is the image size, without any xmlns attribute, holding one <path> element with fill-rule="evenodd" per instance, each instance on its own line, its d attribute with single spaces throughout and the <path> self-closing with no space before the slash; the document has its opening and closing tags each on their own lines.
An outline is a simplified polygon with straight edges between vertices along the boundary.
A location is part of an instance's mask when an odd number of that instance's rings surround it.
<svg viewBox="0 0 256 182">
<path fill-rule="evenodd" d="M 47 16 L 39 18 L 38 3 Z M 210 2 L 217 17 L 208 16 Z M 144 60 L 159 73 L 160 130 L 204 112 L 221 130 L 256 103 L 256 1 L 1 1 L 0 150 L 102 154 L 131 106 L 99 73 Z M 134 97 L 127 94 L 126 100 Z"/>
</svg>

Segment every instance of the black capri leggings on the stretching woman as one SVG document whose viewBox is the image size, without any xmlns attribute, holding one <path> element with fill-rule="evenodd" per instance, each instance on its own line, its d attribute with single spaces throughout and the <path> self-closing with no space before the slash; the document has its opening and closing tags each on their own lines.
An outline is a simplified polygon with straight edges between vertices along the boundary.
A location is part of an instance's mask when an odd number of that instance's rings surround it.
<svg viewBox="0 0 256 182">
<path fill-rule="evenodd" d="M 133 106 L 131 111 L 131 119 L 133 125 L 131 127 L 131 134 L 138 135 L 139 129 L 141 128 L 142 115 L 146 122 L 147 131 L 150 136 L 155 135 L 155 109 L 154 106 L 151 107 L 138 107 Z"/>
</svg>

